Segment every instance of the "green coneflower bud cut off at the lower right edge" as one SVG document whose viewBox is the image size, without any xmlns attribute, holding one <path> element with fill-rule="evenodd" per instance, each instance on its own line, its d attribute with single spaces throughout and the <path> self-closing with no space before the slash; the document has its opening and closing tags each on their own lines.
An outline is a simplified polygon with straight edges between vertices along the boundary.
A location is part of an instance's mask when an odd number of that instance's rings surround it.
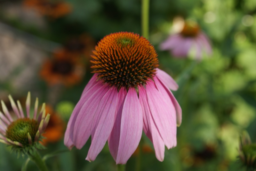
<svg viewBox="0 0 256 171">
<path fill-rule="evenodd" d="M 250 136 L 244 132 L 239 144 L 239 158 L 247 170 L 256 169 L 256 143 L 252 143 Z"/>
</svg>

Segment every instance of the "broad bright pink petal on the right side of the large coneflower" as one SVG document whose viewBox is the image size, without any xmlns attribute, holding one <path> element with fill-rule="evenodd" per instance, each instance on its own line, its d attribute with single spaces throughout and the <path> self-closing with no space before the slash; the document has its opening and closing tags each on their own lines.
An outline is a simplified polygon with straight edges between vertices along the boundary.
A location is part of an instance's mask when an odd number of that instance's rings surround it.
<svg viewBox="0 0 256 171">
<path fill-rule="evenodd" d="M 154 81 L 146 85 L 148 105 L 164 144 L 170 149 L 176 145 L 176 111 L 168 94 L 161 92 L 164 87 L 157 79 Z"/>
</svg>

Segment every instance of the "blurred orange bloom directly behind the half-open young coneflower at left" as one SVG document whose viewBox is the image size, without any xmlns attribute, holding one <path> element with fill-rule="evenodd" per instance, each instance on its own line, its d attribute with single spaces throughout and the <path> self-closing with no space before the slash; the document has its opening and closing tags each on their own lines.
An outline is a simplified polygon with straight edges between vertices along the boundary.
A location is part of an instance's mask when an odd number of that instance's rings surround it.
<svg viewBox="0 0 256 171">
<path fill-rule="evenodd" d="M 63 120 L 53 111 L 52 107 L 49 105 L 45 106 L 45 113 L 49 113 L 51 117 L 44 133 L 42 134 L 44 139 L 42 139 L 41 143 L 43 145 L 46 145 L 47 143 L 58 142 L 64 135 L 65 127 Z"/>
</svg>

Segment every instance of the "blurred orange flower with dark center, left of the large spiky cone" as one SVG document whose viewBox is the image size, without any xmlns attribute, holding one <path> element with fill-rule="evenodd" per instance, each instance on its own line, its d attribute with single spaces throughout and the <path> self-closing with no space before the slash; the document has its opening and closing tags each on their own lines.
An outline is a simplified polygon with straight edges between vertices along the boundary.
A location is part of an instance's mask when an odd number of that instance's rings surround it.
<svg viewBox="0 0 256 171">
<path fill-rule="evenodd" d="M 40 75 L 49 85 L 71 86 L 81 81 L 84 75 L 84 65 L 79 58 L 61 49 L 54 54 L 51 60 L 48 59 L 43 64 Z"/>
</svg>

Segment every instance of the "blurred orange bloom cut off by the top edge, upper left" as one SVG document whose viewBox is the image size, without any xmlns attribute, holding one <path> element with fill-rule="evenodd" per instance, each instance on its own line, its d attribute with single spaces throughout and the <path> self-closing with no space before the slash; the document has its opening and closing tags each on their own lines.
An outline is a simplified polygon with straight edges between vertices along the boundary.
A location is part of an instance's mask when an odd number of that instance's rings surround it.
<svg viewBox="0 0 256 171">
<path fill-rule="evenodd" d="M 71 12 L 70 4 L 63 1 L 25 0 L 26 7 L 35 8 L 40 14 L 57 19 Z"/>
</svg>

